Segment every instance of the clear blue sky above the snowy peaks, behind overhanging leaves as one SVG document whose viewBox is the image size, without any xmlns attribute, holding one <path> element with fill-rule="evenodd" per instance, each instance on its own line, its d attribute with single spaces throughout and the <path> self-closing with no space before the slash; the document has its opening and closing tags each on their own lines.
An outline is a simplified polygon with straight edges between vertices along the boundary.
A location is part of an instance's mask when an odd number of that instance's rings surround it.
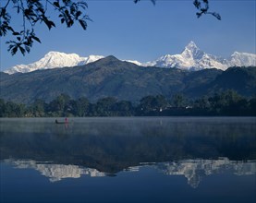
<svg viewBox="0 0 256 203">
<path fill-rule="evenodd" d="M 5 0 L 4 0 L 5 1 Z M 2 4 L 3 1 L 1 0 Z M 146 62 L 164 54 L 179 54 L 190 42 L 202 51 L 229 56 L 235 51 L 256 53 L 255 0 L 210 0 L 210 8 L 221 14 L 219 21 L 212 16 L 196 17 L 193 0 L 158 0 L 134 4 L 132 0 L 91 0 L 88 30 L 79 25 L 67 29 L 59 23 L 55 12 L 48 16 L 56 28 L 36 27 L 42 43 L 35 42 L 30 54 L 11 56 L 6 40 L 1 39 L 1 70 L 18 64 L 30 64 L 50 51 L 89 54 L 113 54 L 120 59 Z M 20 17 L 13 16 L 13 25 L 21 27 Z"/>
</svg>

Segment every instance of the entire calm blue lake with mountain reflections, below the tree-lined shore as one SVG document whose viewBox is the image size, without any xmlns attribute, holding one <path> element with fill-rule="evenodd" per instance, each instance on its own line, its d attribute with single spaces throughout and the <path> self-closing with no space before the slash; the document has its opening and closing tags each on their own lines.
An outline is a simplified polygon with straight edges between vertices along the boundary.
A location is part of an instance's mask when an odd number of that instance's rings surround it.
<svg viewBox="0 0 256 203">
<path fill-rule="evenodd" d="M 0 201 L 255 203 L 255 132 L 255 117 L 1 118 Z"/>
</svg>

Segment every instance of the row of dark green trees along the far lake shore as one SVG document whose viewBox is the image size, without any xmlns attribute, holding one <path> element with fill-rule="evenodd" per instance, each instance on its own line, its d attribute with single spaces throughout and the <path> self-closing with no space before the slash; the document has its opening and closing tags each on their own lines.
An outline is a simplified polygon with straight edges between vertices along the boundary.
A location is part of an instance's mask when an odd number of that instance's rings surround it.
<svg viewBox="0 0 256 203">
<path fill-rule="evenodd" d="M 105 97 L 90 102 L 60 94 L 51 102 L 37 99 L 30 104 L 0 99 L 0 117 L 86 117 L 86 116 L 256 116 L 256 96 L 244 97 L 235 90 L 215 93 L 198 99 L 188 99 L 183 94 L 171 98 L 149 95 L 139 102 L 118 101 Z"/>
</svg>

